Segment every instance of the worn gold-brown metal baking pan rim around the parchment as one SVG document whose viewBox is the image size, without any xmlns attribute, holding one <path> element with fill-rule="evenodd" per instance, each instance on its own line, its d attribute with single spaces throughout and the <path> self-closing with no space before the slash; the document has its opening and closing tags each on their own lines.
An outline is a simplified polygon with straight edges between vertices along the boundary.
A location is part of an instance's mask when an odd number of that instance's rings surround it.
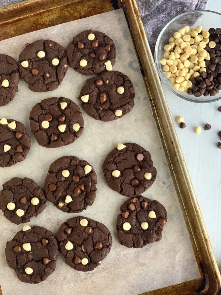
<svg viewBox="0 0 221 295">
<path fill-rule="evenodd" d="M 123 7 L 201 278 L 146 295 L 215 295 L 221 277 L 135 0 L 32 0 L 0 8 L 0 40 Z M 0 290 L 0 294 L 1 290 Z M 144 295 L 142 294 L 142 295 Z"/>
</svg>

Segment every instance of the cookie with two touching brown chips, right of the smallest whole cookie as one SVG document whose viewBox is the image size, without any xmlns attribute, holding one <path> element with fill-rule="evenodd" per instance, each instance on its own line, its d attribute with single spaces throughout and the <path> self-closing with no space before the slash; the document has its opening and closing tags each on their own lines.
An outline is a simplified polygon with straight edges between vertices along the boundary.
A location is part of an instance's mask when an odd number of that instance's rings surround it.
<svg viewBox="0 0 221 295">
<path fill-rule="evenodd" d="M 96 196 L 97 175 L 85 160 L 65 156 L 49 167 L 44 192 L 55 207 L 67 213 L 82 212 Z"/>
</svg>

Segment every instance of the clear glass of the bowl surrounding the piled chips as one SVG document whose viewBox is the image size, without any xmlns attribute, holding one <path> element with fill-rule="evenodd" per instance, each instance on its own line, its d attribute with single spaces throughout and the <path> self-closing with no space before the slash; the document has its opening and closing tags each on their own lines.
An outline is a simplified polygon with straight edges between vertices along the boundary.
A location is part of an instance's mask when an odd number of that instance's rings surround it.
<svg viewBox="0 0 221 295">
<path fill-rule="evenodd" d="M 193 10 L 185 12 L 178 15 L 172 19 L 161 31 L 159 37 L 156 41 L 155 47 L 155 63 L 156 68 L 159 73 L 161 80 L 166 84 L 166 86 L 179 97 L 192 101 L 192 102 L 213 102 L 221 99 L 221 90 L 215 96 L 200 96 L 195 97 L 194 95 L 188 95 L 185 92 L 177 91 L 172 84 L 169 82 L 169 79 L 164 76 L 160 60 L 163 58 L 164 46 L 168 44 L 169 38 L 173 36 L 174 32 L 177 32 L 179 29 L 189 26 L 190 28 L 197 27 L 202 25 L 203 29 L 209 30 L 209 28 L 219 28 L 221 27 L 221 14 L 210 11 L 210 10 Z"/>
</svg>

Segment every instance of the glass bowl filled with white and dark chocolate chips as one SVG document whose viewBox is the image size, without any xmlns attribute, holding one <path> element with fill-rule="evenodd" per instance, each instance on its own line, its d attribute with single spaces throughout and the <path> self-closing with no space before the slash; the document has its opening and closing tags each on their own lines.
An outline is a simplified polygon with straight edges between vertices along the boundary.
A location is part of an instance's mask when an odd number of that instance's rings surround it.
<svg viewBox="0 0 221 295">
<path fill-rule="evenodd" d="M 161 31 L 155 47 L 161 80 L 177 96 L 206 103 L 221 99 L 221 14 L 185 12 Z"/>
</svg>

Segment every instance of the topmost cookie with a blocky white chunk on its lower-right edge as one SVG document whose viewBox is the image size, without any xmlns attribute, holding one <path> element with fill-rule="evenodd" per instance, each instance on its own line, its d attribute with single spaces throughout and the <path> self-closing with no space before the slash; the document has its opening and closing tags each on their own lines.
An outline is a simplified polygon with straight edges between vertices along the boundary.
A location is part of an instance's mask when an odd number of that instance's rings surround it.
<svg viewBox="0 0 221 295">
<path fill-rule="evenodd" d="M 86 30 L 69 43 L 67 58 L 70 66 L 83 75 L 100 74 L 112 70 L 116 47 L 104 33 Z"/>
</svg>

